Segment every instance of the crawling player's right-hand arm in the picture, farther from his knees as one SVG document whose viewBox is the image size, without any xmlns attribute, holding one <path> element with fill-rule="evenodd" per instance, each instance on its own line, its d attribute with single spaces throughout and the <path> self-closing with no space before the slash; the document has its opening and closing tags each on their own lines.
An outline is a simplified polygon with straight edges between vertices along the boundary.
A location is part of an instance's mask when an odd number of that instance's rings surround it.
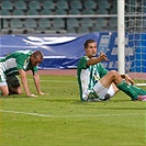
<svg viewBox="0 0 146 146">
<path fill-rule="evenodd" d="M 34 85 L 36 87 L 36 90 L 38 92 L 38 94 L 44 94 L 42 91 L 41 91 L 41 81 L 40 81 L 40 75 L 37 72 L 34 72 L 33 74 L 33 80 L 34 80 Z"/>
</svg>

